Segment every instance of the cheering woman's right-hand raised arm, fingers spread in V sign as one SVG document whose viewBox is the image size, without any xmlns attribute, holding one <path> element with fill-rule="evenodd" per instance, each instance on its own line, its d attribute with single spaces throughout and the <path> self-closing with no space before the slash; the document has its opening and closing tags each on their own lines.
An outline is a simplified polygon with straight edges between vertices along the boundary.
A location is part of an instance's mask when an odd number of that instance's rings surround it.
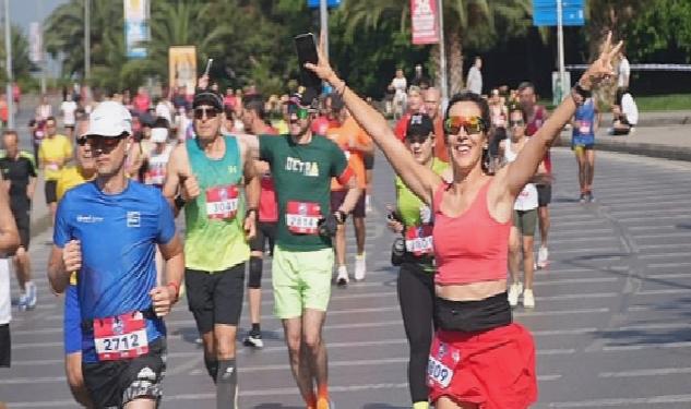
<svg viewBox="0 0 691 409">
<path fill-rule="evenodd" d="M 611 33 L 607 35 L 603 52 L 599 55 L 599 58 L 588 67 L 583 76 L 581 76 L 576 87 L 574 87 L 574 91 L 571 93 L 572 97 L 567 97 L 559 107 L 557 107 L 545 124 L 531 137 L 531 141 L 525 144 L 523 149 L 521 149 L 516 160 L 507 167 L 505 183 L 511 194 L 514 196 L 517 195 L 525 183 L 535 175 L 547 149 L 549 149 L 555 142 L 555 139 L 559 135 L 563 125 L 573 117 L 576 110 L 576 103 L 582 104 L 582 97 L 575 92 L 575 88 L 580 86 L 583 91 L 589 93 L 601 80 L 611 77 L 615 74 L 611 60 L 617 56 L 622 44 L 622 41 L 619 41 L 617 46 L 613 46 L 611 43 Z"/>
</svg>

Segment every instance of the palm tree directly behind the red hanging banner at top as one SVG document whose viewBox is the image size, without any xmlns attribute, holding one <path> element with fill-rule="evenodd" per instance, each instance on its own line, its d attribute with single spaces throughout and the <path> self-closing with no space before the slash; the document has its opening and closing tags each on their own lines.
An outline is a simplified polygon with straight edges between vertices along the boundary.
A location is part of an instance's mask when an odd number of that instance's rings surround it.
<svg viewBox="0 0 691 409">
<path fill-rule="evenodd" d="M 463 88 L 463 49 L 486 49 L 498 40 L 496 21 L 512 28 L 511 35 L 524 34 L 529 25 L 529 0 L 446 0 L 443 1 L 444 37 L 450 93 Z M 406 29 L 410 11 L 409 2 L 402 0 L 347 0 L 346 34 L 357 29 L 376 28 L 383 19 L 397 19 L 400 29 Z M 434 72 L 440 71 L 439 45 L 433 45 L 430 62 Z M 438 75 L 439 77 L 439 75 Z M 439 80 L 438 80 L 439 81 Z"/>
</svg>

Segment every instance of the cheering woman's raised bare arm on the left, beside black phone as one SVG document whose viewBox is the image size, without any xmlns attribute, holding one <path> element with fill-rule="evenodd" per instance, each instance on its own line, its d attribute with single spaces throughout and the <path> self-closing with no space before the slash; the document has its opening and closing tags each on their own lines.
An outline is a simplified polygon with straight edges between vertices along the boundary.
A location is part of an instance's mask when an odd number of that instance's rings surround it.
<svg viewBox="0 0 691 409">
<path fill-rule="evenodd" d="M 403 182 L 424 202 L 431 203 L 432 192 L 442 182 L 442 179 L 431 169 L 418 164 L 405 148 L 405 145 L 396 139 L 386 119 L 348 88 L 343 80 L 338 79 L 324 57 L 322 47 L 319 50 L 319 63 L 317 65 L 307 63 L 305 67 L 314 71 L 320 79 L 329 82 L 343 96 L 353 118 L 384 153 Z"/>
</svg>

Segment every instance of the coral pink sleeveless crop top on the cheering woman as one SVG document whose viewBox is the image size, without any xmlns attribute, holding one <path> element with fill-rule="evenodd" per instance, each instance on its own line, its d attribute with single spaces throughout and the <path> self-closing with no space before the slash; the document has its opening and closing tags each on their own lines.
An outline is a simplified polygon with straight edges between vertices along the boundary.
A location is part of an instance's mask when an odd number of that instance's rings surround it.
<svg viewBox="0 0 691 409">
<path fill-rule="evenodd" d="M 464 285 L 507 278 L 511 220 L 495 220 L 487 208 L 487 182 L 470 207 L 458 217 L 449 217 L 441 209 L 441 200 L 449 184 L 434 192 L 434 260 L 440 285 Z"/>
</svg>

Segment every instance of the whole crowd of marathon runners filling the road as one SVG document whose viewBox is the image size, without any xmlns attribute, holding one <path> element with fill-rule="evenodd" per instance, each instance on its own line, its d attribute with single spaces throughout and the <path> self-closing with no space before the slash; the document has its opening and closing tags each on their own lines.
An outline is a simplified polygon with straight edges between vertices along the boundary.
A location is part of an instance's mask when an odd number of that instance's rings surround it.
<svg viewBox="0 0 691 409">
<path fill-rule="evenodd" d="M 534 272 L 549 263 L 549 148 L 571 123 L 580 200 L 592 202 L 591 92 L 615 74 L 620 47 L 608 38 L 551 115 L 528 82 L 487 97 L 462 92 L 442 109 L 428 80 L 407 86 L 400 72 L 392 88 L 406 108 L 391 127 L 321 55 L 307 68 L 333 92 L 314 100 L 266 99 L 257 89 L 223 96 L 206 75 L 189 96 L 179 88 L 155 105 L 144 89 L 87 107 L 65 93 L 63 135 L 44 99 L 32 122 L 40 132 L 34 153 L 19 149 L 14 131 L 2 137 L 0 252 L 12 254 L 19 308 L 37 303 L 27 251 L 40 171 L 53 226 L 48 278 L 64 293 L 65 373 L 79 404 L 156 407 L 164 318 L 186 297 L 217 407 L 237 408 L 243 297 L 247 288 L 251 330 L 242 344 L 261 349 L 271 256 L 295 382 L 308 409 L 333 409 L 322 327 L 332 284 L 367 278 L 377 146 L 396 172 L 388 226 L 413 408 L 526 408 L 537 399 L 535 346 L 512 308 L 535 308 Z M 281 116 L 272 121 L 273 110 Z M 0 366 L 8 366 L 9 281 L 0 290 Z"/>
</svg>

